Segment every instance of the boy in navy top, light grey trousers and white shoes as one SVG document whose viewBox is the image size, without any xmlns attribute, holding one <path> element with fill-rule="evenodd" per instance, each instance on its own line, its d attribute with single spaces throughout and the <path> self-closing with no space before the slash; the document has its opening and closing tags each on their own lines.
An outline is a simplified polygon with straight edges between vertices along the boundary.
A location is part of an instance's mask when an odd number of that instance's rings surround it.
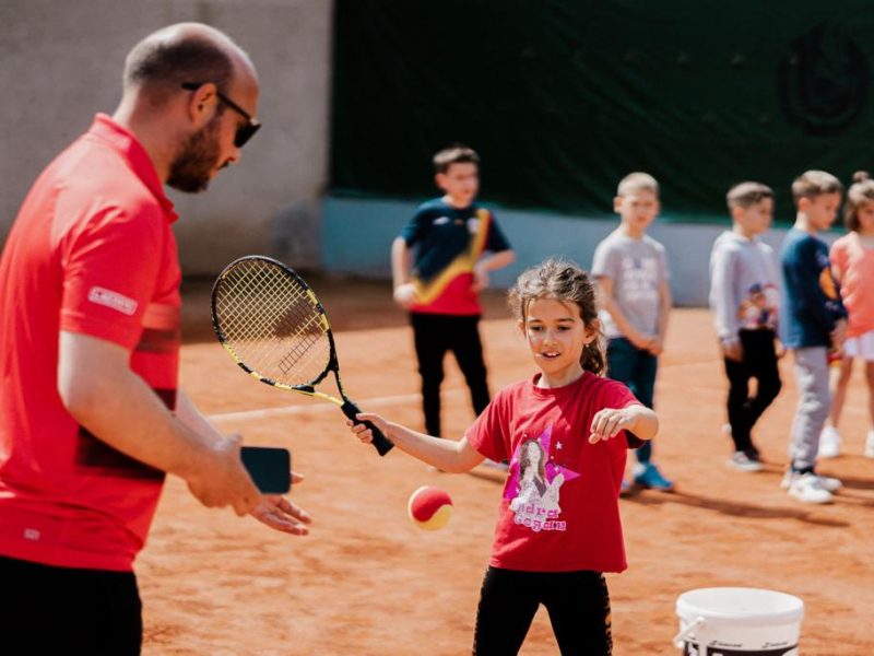
<svg viewBox="0 0 874 656">
<path fill-rule="evenodd" d="M 780 253 L 783 294 L 780 339 L 794 356 L 799 405 L 789 445 L 790 469 L 782 485 L 804 503 L 829 503 L 838 479 L 814 471 L 830 405 L 828 353 L 840 351 L 847 311 L 831 277 L 828 245 L 816 236 L 828 230 L 840 207 L 843 187 L 824 171 L 808 171 L 792 183 L 798 208 L 795 225 Z"/>
</svg>

